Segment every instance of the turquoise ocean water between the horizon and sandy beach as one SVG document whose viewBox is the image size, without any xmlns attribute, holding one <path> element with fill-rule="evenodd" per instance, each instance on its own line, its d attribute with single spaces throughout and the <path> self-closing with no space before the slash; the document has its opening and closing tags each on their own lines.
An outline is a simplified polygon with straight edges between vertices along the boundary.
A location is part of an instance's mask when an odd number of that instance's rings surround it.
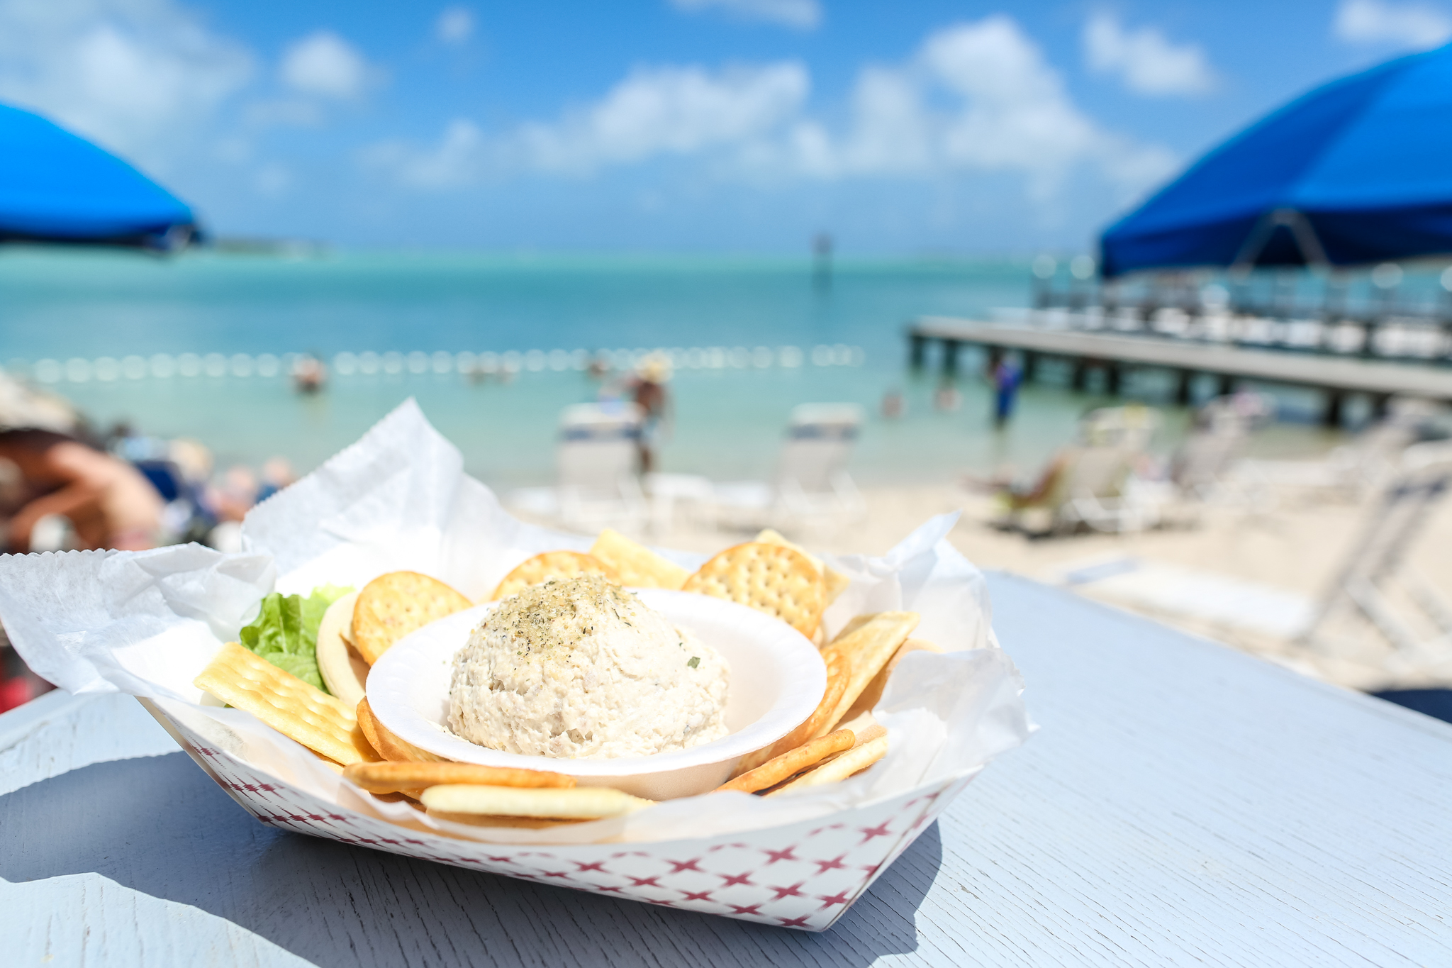
<svg viewBox="0 0 1452 968">
<path fill-rule="evenodd" d="M 908 372 L 905 322 L 1022 306 L 1028 279 L 1027 260 L 844 260 L 823 286 L 809 261 L 786 258 L 9 250 L 0 358 L 97 425 L 195 437 L 222 467 L 280 454 L 308 470 L 414 396 L 475 475 L 507 488 L 550 479 L 560 408 L 600 392 L 569 354 L 678 350 L 662 469 L 765 475 L 793 405 L 849 401 L 870 414 L 860 482 L 937 482 L 1031 467 L 1101 399 L 1025 387 L 1012 425 L 995 432 L 971 356 L 954 412 L 934 408 L 937 374 Z M 691 348 L 719 350 L 720 366 Z M 299 396 L 273 372 L 289 353 L 341 366 L 325 392 Z M 459 373 L 460 353 L 520 372 L 475 382 Z M 900 419 L 880 415 L 892 389 L 908 403 Z M 1163 390 L 1153 377 L 1130 386 L 1150 399 Z M 1185 415 L 1166 409 L 1170 443 Z"/>
</svg>

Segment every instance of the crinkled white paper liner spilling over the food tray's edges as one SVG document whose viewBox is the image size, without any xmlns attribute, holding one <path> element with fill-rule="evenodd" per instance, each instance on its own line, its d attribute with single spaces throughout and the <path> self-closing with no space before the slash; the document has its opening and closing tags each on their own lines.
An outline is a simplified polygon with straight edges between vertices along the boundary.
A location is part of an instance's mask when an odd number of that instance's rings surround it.
<svg viewBox="0 0 1452 968">
<path fill-rule="evenodd" d="M 192 544 L 3 556 L 0 620 L 30 668 L 61 688 L 160 700 L 168 718 L 218 750 L 359 816 L 497 843 L 700 839 L 828 819 L 915 789 L 960 788 L 955 781 L 1027 739 L 1022 679 L 993 640 L 983 576 L 944 537 L 953 521 L 929 520 L 883 557 L 825 556 L 852 579 L 829 610 L 829 634 L 855 614 L 903 608 L 922 614 L 918 637 L 950 650 L 912 653 L 897 666 L 876 710 L 890 752 L 874 768 L 799 794 L 707 794 L 546 830 L 453 824 L 378 801 L 248 713 L 200 705 L 202 691 L 192 685 L 270 591 L 362 586 L 411 569 L 478 599 L 531 554 L 590 547 L 590 537 L 505 514 L 486 486 L 463 473 L 457 448 L 412 401 L 254 508 L 242 525 L 244 553 Z"/>
</svg>

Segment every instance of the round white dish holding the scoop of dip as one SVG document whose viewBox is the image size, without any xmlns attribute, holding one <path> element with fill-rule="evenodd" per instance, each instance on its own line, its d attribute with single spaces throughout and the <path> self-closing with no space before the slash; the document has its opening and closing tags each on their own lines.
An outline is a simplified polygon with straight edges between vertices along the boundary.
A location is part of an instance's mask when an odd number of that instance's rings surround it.
<svg viewBox="0 0 1452 968">
<path fill-rule="evenodd" d="M 378 718 L 414 746 L 485 766 L 547 769 L 582 785 L 616 787 L 671 800 L 719 787 L 746 753 L 774 743 L 806 720 L 826 691 L 816 646 L 786 623 L 735 602 L 688 592 L 632 589 L 640 601 L 716 647 L 730 668 L 726 727 L 713 743 L 674 753 L 620 759 L 520 756 L 478 746 L 449 731 L 453 657 L 495 602 L 440 618 L 395 643 L 367 676 Z"/>
</svg>

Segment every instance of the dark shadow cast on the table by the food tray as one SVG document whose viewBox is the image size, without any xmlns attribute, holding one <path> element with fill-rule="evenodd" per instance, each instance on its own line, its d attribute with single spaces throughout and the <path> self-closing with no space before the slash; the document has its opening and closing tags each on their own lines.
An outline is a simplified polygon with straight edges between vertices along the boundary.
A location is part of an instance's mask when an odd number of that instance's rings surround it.
<svg viewBox="0 0 1452 968">
<path fill-rule="evenodd" d="M 96 872 L 333 965 L 868 965 L 915 951 L 942 861 L 929 827 L 809 935 L 463 871 L 257 823 L 183 753 L 0 797 L 0 878 Z"/>
</svg>

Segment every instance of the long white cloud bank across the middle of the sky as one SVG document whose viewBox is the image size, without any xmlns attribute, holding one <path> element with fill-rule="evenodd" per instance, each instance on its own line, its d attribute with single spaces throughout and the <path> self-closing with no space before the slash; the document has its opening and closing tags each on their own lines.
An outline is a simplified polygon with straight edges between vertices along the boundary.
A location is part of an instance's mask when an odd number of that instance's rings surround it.
<svg viewBox="0 0 1452 968">
<path fill-rule="evenodd" d="M 453 187 L 534 170 L 588 174 L 661 157 L 697 157 L 719 176 L 935 179 L 999 171 L 1051 197 L 1089 168 L 1121 200 L 1169 176 L 1176 158 L 1105 131 L 1080 112 L 1043 51 L 1006 16 L 944 28 L 900 65 L 858 74 L 849 113 L 807 112 L 810 78 L 791 61 L 707 71 L 637 68 L 601 99 L 553 122 L 489 135 L 454 120 L 433 147 L 376 145 L 375 168 L 414 187 Z"/>
</svg>

